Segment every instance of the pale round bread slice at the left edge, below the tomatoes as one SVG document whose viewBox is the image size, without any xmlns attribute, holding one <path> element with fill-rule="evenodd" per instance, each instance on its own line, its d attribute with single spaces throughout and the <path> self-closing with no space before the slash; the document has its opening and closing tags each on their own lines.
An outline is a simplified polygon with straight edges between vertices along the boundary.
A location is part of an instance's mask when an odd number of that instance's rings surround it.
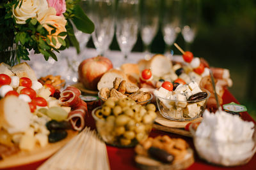
<svg viewBox="0 0 256 170">
<path fill-rule="evenodd" d="M 7 96 L 0 100 L 0 127 L 10 134 L 24 132 L 30 123 L 28 103 L 16 96 Z"/>
</svg>

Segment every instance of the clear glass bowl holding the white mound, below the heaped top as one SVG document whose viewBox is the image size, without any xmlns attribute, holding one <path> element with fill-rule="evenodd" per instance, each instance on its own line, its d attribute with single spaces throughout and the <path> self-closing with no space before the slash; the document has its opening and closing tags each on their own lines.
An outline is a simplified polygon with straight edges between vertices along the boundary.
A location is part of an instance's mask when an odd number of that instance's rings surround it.
<svg viewBox="0 0 256 170">
<path fill-rule="evenodd" d="M 201 159 L 219 166 L 241 166 L 252 159 L 256 151 L 256 128 L 252 139 L 240 142 L 224 142 L 196 136 L 196 122 L 189 125 L 196 152 Z"/>
</svg>

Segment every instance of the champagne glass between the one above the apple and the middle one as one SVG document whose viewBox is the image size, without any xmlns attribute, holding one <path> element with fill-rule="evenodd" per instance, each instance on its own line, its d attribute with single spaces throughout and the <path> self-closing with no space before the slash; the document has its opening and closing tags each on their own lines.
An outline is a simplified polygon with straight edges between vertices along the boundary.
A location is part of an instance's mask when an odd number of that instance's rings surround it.
<svg viewBox="0 0 256 170">
<path fill-rule="evenodd" d="M 139 27 L 138 0 L 119 0 L 116 10 L 116 39 L 125 59 L 137 41 Z"/>
</svg>

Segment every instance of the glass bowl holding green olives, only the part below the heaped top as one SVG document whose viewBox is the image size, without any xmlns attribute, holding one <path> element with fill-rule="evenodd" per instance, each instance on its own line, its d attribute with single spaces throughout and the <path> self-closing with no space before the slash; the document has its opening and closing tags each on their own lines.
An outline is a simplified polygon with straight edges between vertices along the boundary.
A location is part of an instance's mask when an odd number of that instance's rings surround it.
<svg viewBox="0 0 256 170">
<path fill-rule="evenodd" d="M 143 106 L 141 106 L 143 107 Z M 155 118 L 152 118 L 152 122 L 145 123 L 143 120 L 140 122 L 136 120 L 135 114 L 134 117 L 128 117 L 129 121 L 124 123 L 124 117 L 120 120 L 120 116 L 124 116 L 125 113 L 122 113 L 118 116 L 109 116 L 106 118 L 99 118 L 96 114 L 97 110 L 100 110 L 102 106 L 95 108 L 92 111 L 92 116 L 95 120 L 97 132 L 100 137 L 108 145 L 118 146 L 118 147 L 132 147 L 138 144 L 138 141 L 148 138 L 148 134 L 152 130 Z M 120 125 L 120 121 L 122 125 Z M 127 118 L 127 117 L 126 117 Z M 141 117 L 142 118 L 142 117 Z"/>
</svg>

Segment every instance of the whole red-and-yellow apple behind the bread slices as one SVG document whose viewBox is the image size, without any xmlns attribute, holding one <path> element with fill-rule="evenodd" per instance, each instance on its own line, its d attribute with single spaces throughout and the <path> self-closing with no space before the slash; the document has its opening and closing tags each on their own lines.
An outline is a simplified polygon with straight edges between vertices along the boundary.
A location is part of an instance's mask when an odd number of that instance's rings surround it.
<svg viewBox="0 0 256 170">
<path fill-rule="evenodd" d="M 97 90 L 97 84 L 106 71 L 113 68 L 111 60 L 98 56 L 83 60 L 78 67 L 79 81 L 89 90 Z"/>
</svg>

